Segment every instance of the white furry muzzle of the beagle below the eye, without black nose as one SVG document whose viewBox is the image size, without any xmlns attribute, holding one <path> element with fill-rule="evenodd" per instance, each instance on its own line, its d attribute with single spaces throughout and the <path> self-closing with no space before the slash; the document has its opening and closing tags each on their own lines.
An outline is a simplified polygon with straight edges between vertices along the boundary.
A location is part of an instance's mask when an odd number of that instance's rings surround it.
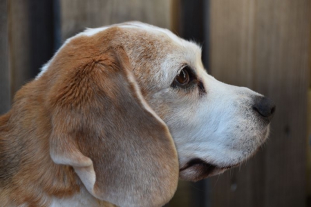
<svg viewBox="0 0 311 207">
<path fill-rule="evenodd" d="M 265 141 L 268 132 L 268 126 L 253 120 L 256 118 L 250 110 L 251 95 L 258 94 L 221 83 L 207 74 L 203 81 L 208 92 L 196 104 L 191 115 L 194 118 L 185 120 L 184 112 L 173 117 L 185 123 L 172 124 L 171 128 L 180 163 L 196 157 L 220 167 L 239 164 Z"/>
</svg>

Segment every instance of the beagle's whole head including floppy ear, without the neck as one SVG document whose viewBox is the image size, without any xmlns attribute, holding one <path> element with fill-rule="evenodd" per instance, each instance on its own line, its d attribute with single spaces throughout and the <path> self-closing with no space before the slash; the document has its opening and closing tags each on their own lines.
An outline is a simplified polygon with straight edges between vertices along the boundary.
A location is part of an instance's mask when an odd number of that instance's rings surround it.
<svg viewBox="0 0 311 207">
<path fill-rule="evenodd" d="M 68 39 L 36 81 L 48 88 L 53 161 L 120 206 L 160 206 L 178 177 L 240 164 L 274 114 L 270 99 L 208 75 L 195 43 L 138 22 Z"/>
</svg>

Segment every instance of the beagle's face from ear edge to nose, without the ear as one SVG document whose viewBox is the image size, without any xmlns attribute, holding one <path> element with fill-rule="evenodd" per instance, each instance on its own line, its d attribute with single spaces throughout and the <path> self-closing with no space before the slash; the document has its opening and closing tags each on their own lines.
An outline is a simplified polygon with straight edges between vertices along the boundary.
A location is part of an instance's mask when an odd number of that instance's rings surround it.
<svg viewBox="0 0 311 207">
<path fill-rule="evenodd" d="M 124 46 L 144 99 L 167 124 L 180 178 L 197 181 L 253 155 L 267 139 L 274 103 L 208 75 L 196 43 L 169 30 L 131 23 Z"/>
</svg>

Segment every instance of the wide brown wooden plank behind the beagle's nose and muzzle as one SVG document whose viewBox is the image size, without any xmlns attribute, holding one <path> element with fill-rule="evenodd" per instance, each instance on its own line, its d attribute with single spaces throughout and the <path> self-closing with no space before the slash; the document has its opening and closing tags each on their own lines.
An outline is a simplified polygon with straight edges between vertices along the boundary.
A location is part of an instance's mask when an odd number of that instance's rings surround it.
<svg viewBox="0 0 311 207">
<path fill-rule="evenodd" d="M 212 179 L 211 206 L 305 206 L 310 1 L 210 2 L 211 75 L 276 103 L 267 144 Z"/>
</svg>

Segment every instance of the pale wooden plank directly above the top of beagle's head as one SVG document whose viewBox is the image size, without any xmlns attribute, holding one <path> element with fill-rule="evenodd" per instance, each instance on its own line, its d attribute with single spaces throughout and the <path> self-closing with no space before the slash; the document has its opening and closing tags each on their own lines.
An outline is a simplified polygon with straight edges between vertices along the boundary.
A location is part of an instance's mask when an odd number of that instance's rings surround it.
<svg viewBox="0 0 311 207">
<path fill-rule="evenodd" d="M 62 9 L 62 39 L 66 40 L 85 28 L 143 21 L 171 28 L 171 0 L 59 0 Z"/>
</svg>

